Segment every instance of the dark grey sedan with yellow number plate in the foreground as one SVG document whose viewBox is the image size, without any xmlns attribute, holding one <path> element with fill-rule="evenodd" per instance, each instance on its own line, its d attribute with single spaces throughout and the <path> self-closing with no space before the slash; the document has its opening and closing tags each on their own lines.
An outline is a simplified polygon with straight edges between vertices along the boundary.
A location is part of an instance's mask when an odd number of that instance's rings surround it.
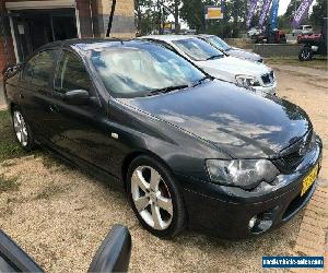
<svg viewBox="0 0 328 273">
<path fill-rule="evenodd" d="M 125 188 L 159 237 L 256 236 L 315 191 L 323 144 L 305 111 L 154 43 L 57 41 L 16 71 L 4 84 L 22 147 L 43 145 Z"/>
</svg>

